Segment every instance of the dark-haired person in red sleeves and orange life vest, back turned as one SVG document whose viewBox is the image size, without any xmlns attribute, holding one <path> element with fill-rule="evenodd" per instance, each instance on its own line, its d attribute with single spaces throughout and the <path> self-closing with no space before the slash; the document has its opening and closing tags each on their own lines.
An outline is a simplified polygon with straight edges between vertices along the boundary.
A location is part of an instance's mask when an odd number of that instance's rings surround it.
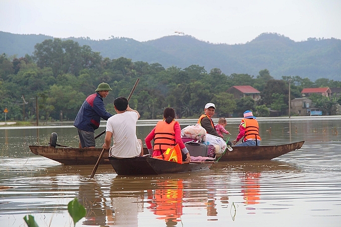
<svg viewBox="0 0 341 227">
<path fill-rule="evenodd" d="M 154 139 L 154 147 L 151 146 L 151 140 Z M 156 126 L 144 139 L 149 154 L 152 156 L 161 155 L 168 147 L 179 144 L 183 155 L 183 160 L 191 161 L 191 156 L 181 139 L 181 128 L 178 121 L 175 121 L 175 111 L 173 108 L 165 108 L 163 111 L 163 120 L 157 122 Z"/>
</svg>

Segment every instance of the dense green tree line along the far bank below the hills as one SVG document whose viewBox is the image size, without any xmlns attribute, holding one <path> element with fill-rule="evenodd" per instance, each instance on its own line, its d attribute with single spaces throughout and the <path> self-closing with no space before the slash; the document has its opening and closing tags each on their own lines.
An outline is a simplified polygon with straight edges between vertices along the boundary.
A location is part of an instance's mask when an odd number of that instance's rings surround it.
<svg viewBox="0 0 341 227">
<path fill-rule="evenodd" d="M 268 116 L 269 108 L 287 114 L 289 80 L 291 99 L 301 97 L 304 87 L 341 87 L 340 81 L 325 78 L 312 82 L 299 76 L 283 76 L 275 80 L 267 69 L 260 70 L 257 76 L 225 75 L 217 68 L 207 72 L 199 65 L 165 69 L 159 63 L 103 58 L 89 46 L 54 39 L 35 45 L 32 56 L 0 56 L 0 108 L 9 110 L 8 120 L 34 121 L 37 105 L 42 121 L 74 120 L 85 98 L 94 93 L 99 83 L 106 82 L 113 91 L 104 103 L 114 114 L 113 100 L 127 97 L 137 78 L 140 82 L 129 105 L 139 111 L 141 119 L 162 118 L 165 107 L 173 107 L 178 118 L 198 118 L 208 102 L 216 104 L 218 117 L 241 116 L 247 109 Z M 257 103 L 250 97 L 235 99 L 226 92 L 235 85 L 256 88 L 262 99 Z M 314 96 L 313 102 L 324 114 L 333 114 L 341 99 Z M 3 114 L 0 120 L 4 118 Z"/>
</svg>

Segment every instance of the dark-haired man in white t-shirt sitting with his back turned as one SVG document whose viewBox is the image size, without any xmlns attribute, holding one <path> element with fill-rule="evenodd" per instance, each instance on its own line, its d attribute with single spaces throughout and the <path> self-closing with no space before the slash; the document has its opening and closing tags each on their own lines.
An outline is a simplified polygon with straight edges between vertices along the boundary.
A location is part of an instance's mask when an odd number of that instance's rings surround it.
<svg viewBox="0 0 341 227">
<path fill-rule="evenodd" d="M 124 97 L 114 100 L 114 108 L 117 114 L 107 120 L 103 148 L 110 148 L 111 137 L 113 137 L 114 145 L 109 150 L 111 157 L 142 156 L 142 140 L 136 137 L 136 122 L 140 114 L 129 107 L 128 100 Z"/>
</svg>

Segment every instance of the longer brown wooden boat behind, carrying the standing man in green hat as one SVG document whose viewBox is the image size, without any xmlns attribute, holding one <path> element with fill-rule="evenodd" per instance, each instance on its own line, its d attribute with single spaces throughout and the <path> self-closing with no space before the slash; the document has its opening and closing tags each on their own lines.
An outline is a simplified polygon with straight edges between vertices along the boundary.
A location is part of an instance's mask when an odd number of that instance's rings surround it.
<svg viewBox="0 0 341 227">
<path fill-rule="evenodd" d="M 283 145 L 267 145 L 255 147 L 236 147 L 233 146 L 232 151 L 226 151 L 219 161 L 248 161 L 248 160 L 270 160 L 290 151 L 297 150 L 302 147 L 304 141 L 283 144 Z M 148 153 L 147 148 L 144 154 Z M 34 154 L 39 154 L 52 160 L 58 161 L 66 165 L 95 165 L 102 151 L 102 148 L 72 148 L 62 147 L 55 148 L 53 146 L 30 146 L 30 150 Z M 108 155 L 103 155 L 101 164 L 110 164 Z"/>
</svg>

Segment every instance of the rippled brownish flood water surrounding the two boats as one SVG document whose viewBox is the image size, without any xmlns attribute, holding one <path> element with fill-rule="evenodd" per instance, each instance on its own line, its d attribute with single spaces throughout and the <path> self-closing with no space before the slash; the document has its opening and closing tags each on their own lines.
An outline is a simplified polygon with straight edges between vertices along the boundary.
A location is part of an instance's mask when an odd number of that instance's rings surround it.
<svg viewBox="0 0 341 227">
<path fill-rule="evenodd" d="M 239 123 L 228 120 L 233 140 Z M 87 211 L 76 226 L 341 226 L 341 116 L 259 124 L 262 145 L 305 143 L 272 160 L 181 174 L 121 177 L 100 165 L 94 179 L 94 166 L 30 153 L 29 145 L 47 145 L 52 132 L 58 144 L 77 147 L 75 128 L 0 128 L 0 226 L 26 226 L 26 214 L 40 227 L 73 226 L 67 204 L 74 198 Z M 152 127 L 138 126 L 138 137 Z"/>
</svg>

